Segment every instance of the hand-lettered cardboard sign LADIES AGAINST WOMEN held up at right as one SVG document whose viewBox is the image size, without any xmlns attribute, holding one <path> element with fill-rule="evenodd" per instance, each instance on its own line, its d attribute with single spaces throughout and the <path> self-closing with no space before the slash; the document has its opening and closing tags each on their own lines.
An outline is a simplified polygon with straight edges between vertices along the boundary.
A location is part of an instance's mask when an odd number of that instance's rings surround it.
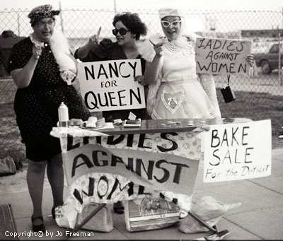
<svg viewBox="0 0 283 241">
<path fill-rule="evenodd" d="M 249 40 L 197 38 L 197 73 L 248 75 L 250 64 L 246 57 L 251 44 Z"/>
</svg>

